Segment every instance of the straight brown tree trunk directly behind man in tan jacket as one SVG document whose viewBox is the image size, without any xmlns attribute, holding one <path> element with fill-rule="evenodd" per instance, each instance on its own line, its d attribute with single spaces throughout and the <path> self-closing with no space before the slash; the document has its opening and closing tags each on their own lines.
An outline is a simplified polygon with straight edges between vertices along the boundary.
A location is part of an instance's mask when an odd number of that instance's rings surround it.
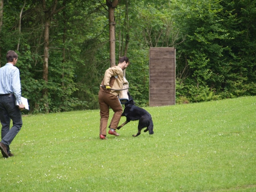
<svg viewBox="0 0 256 192">
<path fill-rule="evenodd" d="M 116 65 L 116 41 L 115 41 L 115 18 L 114 9 L 118 4 L 118 0 L 106 0 L 108 6 L 108 20 L 109 20 L 109 38 L 110 38 L 110 66 Z"/>
</svg>

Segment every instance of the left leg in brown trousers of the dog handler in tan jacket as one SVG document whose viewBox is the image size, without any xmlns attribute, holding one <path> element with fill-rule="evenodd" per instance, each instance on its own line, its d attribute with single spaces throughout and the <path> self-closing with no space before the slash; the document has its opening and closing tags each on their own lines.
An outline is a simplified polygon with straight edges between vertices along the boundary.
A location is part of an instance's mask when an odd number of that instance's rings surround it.
<svg viewBox="0 0 256 192">
<path fill-rule="evenodd" d="M 107 122 L 109 118 L 109 106 L 104 102 L 104 95 L 106 93 L 99 91 L 98 102 L 100 104 L 100 135 L 107 135 Z"/>
</svg>

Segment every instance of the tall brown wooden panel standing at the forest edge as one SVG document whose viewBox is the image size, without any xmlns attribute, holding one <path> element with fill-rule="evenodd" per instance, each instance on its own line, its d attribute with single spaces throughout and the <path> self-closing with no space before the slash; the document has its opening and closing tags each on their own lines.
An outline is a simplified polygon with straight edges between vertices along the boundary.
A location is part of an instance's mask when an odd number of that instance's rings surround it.
<svg viewBox="0 0 256 192">
<path fill-rule="evenodd" d="M 175 48 L 149 50 L 149 106 L 175 105 Z"/>
</svg>

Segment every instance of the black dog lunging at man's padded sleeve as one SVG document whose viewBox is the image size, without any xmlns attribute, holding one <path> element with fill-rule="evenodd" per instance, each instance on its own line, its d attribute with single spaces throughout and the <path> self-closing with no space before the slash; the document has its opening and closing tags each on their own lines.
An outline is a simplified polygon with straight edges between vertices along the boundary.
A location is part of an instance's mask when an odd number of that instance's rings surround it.
<svg viewBox="0 0 256 192">
<path fill-rule="evenodd" d="M 118 126 L 117 129 L 120 129 L 125 124 L 129 123 L 130 121 L 139 120 L 138 133 L 136 135 L 133 135 L 133 137 L 139 136 L 140 131 L 144 127 L 146 127 L 144 132 L 149 131 L 149 134 L 154 134 L 153 121 L 152 121 L 152 117 L 149 114 L 149 112 L 147 112 L 143 108 L 135 106 L 134 105 L 135 103 L 133 101 L 132 96 L 130 96 L 129 92 L 127 94 L 128 94 L 129 101 L 124 104 L 125 108 L 124 108 L 124 111 L 122 113 L 122 116 L 126 117 L 126 122 L 121 124 L 121 126 Z"/>
</svg>

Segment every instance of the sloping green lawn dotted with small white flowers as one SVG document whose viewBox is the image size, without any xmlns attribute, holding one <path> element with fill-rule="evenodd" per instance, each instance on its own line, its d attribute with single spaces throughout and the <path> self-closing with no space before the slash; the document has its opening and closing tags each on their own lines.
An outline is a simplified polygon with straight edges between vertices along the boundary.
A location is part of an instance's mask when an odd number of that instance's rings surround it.
<svg viewBox="0 0 256 192">
<path fill-rule="evenodd" d="M 24 116 L 0 191 L 256 191 L 256 97 L 145 109 L 153 135 L 108 140 L 99 110 Z"/>
</svg>

